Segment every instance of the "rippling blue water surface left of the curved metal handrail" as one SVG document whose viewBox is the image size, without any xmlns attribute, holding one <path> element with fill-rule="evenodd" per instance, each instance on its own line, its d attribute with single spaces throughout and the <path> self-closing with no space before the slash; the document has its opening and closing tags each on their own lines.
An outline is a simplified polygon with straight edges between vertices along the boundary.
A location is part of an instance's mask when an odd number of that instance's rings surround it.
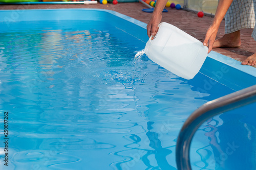
<svg viewBox="0 0 256 170">
<path fill-rule="evenodd" d="M 181 79 L 145 55 L 134 65 L 145 44 L 105 22 L 10 25 L 0 28 L 0 109 L 10 116 L 10 169 L 176 169 L 184 120 L 233 92 L 217 82 L 205 89 L 210 78 L 202 74 Z M 215 140 L 194 148 L 223 151 Z M 216 154 L 208 150 L 200 162 Z"/>
</svg>

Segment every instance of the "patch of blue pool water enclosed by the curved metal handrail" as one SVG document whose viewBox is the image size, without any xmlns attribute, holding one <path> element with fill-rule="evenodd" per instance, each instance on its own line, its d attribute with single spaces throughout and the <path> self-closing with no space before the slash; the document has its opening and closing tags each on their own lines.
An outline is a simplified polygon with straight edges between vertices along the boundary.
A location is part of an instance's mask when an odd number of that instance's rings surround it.
<svg viewBox="0 0 256 170">
<path fill-rule="evenodd" d="M 199 157 L 193 155 L 195 165 L 204 169 L 255 169 L 255 129 L 256 123 L 252 109 L 255 104 L 210 118 L 201 126 L 194 139 L 192 148 Z M 205 147 L 197 149 L 199 141 Z M 190 154 L 191 155 L 191 154 Z"/>
</svg>

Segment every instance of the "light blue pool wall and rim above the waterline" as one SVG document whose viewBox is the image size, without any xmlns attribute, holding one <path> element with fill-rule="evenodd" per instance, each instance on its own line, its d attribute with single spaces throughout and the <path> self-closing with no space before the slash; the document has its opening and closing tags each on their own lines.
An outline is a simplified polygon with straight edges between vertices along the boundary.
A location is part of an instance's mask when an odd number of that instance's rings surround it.
<svg viewBox="0 0 256 170">
<path fill-rule="evenodd" d="M 10 22 L 43 20 L 96 20 L 108 22 L 116 28 L 130 34 L 141 43 L 148 40 L 146 23 L 115 11 L 102 9 L 44 9 L 44 10 L 0 10 L 0 31 L 8 30 Z M 75 27 L 75 26 L 74 26 Z M 214 79 L 233 90 L 240 90 L 256 84 L 256 69 L 243 66 L 241 62 L 216 52 L 208 54 L 201 74 Z M 215 83 L 204 82 L 207 91 Z"/>
</svg>

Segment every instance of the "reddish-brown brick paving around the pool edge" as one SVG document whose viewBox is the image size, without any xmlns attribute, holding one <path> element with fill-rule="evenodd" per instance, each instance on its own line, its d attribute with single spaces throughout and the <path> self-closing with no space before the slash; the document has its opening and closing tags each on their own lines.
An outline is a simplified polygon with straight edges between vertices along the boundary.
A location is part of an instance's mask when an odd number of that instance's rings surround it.
<svg viewBox="0 0 256 170">
<path fill-rule="evenodd" d="M 98 8 L 117 11 L 124 15 L 133 17 L 142 22 L 147 23 L 150 20 L 152 13 L 142 12 L 146 8 L 140 3 L 119 3 L 113 4 L 96 4 L 96 5 L 80 5 L 80 4 L 57 4 L 57 5 L 0 5 L 1 10 L 7 9 L 57 9 L 57 8 Z M 211 24 L 212 17 L 204 16 L 199 18 L 195 12 L 187 12 L 184 10 L 176 10 L 166 8 L 168 12 L 162 14 L 162 21 L 172 23 L 181 30 L 194 36 L 200 41 L 204 40 L 205 33 Z M 223 20 L 217 34 L 217 38 L 224 34 Z M 251 37 L 252 29 L 241 30 L 242 45 L 239 48 L 216 48 L 214 51 L 231 57 L 233 59 L 243 61 L 248 56 L 256 52 L 256 42 Z"/>
</svg>

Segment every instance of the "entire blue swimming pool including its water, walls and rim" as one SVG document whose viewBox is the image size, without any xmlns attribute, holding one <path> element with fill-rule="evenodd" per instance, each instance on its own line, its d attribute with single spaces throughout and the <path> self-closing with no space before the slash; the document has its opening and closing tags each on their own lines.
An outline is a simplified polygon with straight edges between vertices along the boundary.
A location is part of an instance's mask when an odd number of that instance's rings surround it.
<svg viewBox="0 0 256 170">
<path fill-rule="evenodd" d="M 113 11 L 6 10 L 0 21 L 0 154 L 10 169 L 176 169 L 188 115 L 256 82 L 255 68 L 214 52 L 192 80 L 146 56 L 135 63 L 146 24 Z M 193 169 L 255 168 L 253 108 L 201 126 Z"/>
</svg>

